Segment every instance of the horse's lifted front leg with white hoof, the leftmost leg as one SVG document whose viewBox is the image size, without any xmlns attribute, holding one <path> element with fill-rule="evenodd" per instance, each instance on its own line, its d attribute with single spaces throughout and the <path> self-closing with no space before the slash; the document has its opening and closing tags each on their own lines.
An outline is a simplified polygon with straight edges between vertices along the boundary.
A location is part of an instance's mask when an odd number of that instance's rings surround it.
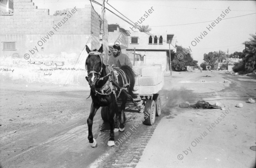
<svg viewBox="0 0 256 168">
<path fill-rule="evenodd" d="M 92 102 L 91 109 L 90 109 L 90 115 L 87 119 L 87 125 L 88 125 L 88 140 L 91 145 L 91 147 L 95 147 L 97 145 L 96 140 L 93 138 L 93 117 L 95 116 L 97 110 L 99 109 L 99 106 L 95 106 Z"/>
</svg>

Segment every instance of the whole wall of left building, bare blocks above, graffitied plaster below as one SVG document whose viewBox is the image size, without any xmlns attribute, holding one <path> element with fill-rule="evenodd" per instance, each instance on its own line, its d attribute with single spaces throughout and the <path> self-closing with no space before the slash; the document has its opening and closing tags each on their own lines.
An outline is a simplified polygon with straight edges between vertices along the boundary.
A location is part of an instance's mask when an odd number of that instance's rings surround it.
<svg viewBox="0 0 256 168">
<path fill-rule="evenodd" d="M 14 0 L 14 14 L 0 15 L 0 78 L 88 87 L 85 45 L 99 49 L 99 25 L 90 5 L 49 15 L 48 9 L 38 9 L 31 0 Z M 105 50 L 107 25 L 105 20 Z M 3 42 L 15 42 L 16 49 L 3 50 Z"/>
</svg>

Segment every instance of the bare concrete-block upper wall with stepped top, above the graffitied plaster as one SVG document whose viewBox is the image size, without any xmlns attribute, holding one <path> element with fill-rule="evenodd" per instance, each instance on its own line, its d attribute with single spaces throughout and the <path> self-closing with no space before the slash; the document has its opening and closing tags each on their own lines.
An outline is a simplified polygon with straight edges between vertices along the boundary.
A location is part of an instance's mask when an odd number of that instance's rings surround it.
<svg viewBox="0 0 256 168">
<path fill-rule="evenodd" d="M 14 0 L 13 11 L 12 16 L 0 15 L 1 34 L 47 35 L 52 31 L 54 34 L 99 36 L 99 20 L 90 5 L 84 8 L 73 6 L 67 9 L 66 15 L 49 15 L 49 9 L 38 9 L 32 0 Z M 105 25 L 108 25 L 107 20 Z M 108 32 L 108 26 L 104 27 Z"/>
</svg>

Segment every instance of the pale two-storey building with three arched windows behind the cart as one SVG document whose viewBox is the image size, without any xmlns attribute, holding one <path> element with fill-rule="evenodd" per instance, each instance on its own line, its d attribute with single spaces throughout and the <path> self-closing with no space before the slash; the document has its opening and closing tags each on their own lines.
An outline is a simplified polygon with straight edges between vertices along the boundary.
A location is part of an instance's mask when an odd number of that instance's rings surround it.
<svg viewBox="0 0 256 168">
<path fill-rule="evenodd" d="M 151 34 L 155 36 L 149 36 L 144 32 L 132 32 L 128 37 L 128 56 L 134 57 L 135 49 L 134 64 L 161 64 L 162 71 L 170 70 L 169 46 L 171 56 L 176 53 L 174 34 Z"/>
</svg>

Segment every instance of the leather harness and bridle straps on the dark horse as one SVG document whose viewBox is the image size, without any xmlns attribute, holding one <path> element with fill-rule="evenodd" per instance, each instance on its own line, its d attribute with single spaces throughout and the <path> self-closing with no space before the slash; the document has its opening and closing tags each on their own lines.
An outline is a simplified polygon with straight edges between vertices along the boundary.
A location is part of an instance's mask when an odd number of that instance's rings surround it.
<svg viewBox="0 0 256 168">
<path fill-rule="evenodd" d="M 90 51 L 88 56 L 89 55 L 99 55 L 99 57 L 101 59 L 101 70 L 99 72 L 96 72 L 96 70 L 93 67 L 93 69 L 87 70 L 88 76 L 91 73 L 99 74 L 98 78 L 96 79 L 97 84 L 99 81 L 104 80 L 104 78 L 108 77 L 108 80 L 102 87 L 96 88 L 94 82 L 90 86 L 91 90 L 94 92 L 95 95 L 97 95 L 97 94 L 110 95 L 113 92 L 113 94 L 115 95 L 115 97 L 117 99 L 117 98 L 119 98 L 119 95 L 122 92 L 122 90 L 124 90 L 125 92 L 128 92 L 127 87 L 130 86 L 130 79 L 128 78 L 129 81 L 127 80 L 127 78 L 125 76 L 125 72 L 123 70 L 121 70 L 119 67 L 112 67 L 110 65 L 106 65 L 107 75 L 100 78 L 102 70 L 103 70 L 102 53 L 99 53 L 97 50 L 92 50 L 92 51 Z M 86 69 L 87 69 L 87 66 L 86 66 Z M 85 77 L 87 81 L 88 81 L 88 76 Z M 122 79 L 123 86 L 120 86 L 120 81 L 118 81 L 119 76 Z M 119 92 L 117 96 L 116 96 L 116 92 Z M 89 97 L 90 97 L 90 95 L 89 95 Z"/>
</svg>

